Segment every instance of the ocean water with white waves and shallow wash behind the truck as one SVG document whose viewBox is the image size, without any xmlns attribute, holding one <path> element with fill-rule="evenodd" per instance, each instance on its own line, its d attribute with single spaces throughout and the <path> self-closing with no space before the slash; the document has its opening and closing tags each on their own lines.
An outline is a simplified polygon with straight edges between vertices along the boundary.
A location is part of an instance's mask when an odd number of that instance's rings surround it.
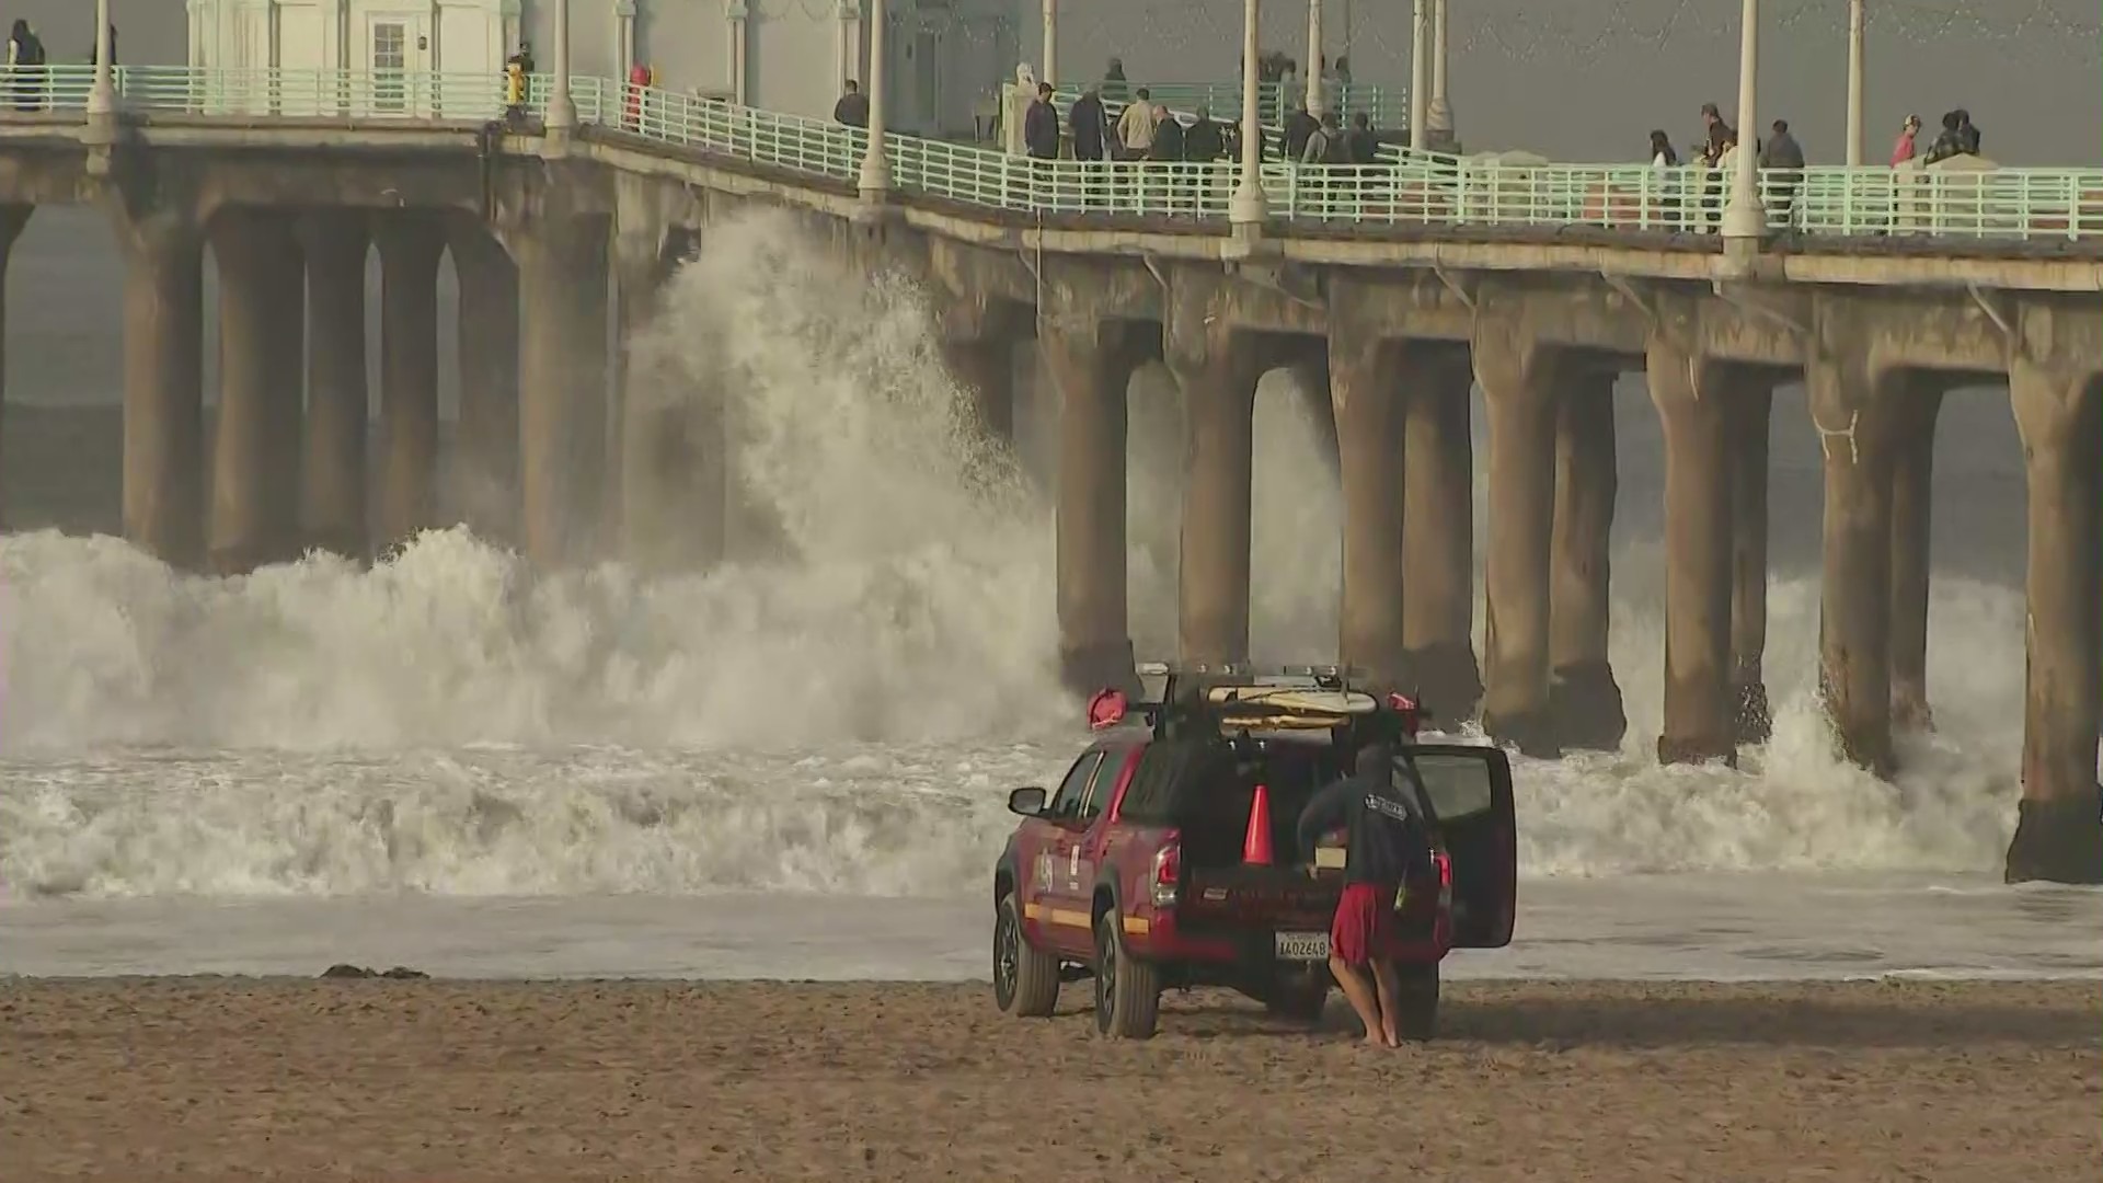
<svg viewBox="0 0 2103 1183">
<path fill-rule="evenodd" d="M 57 484 L 11 469 L 11 514 L 76 533 L 0 537 L 0 973 L 984 975 L 1005 794 L 1054 781 L 1083 733 L 1056 682 L 1043 400 L 1012 453 L 976 444 L 930 324 L 919 293 L 782 221 L 711 238 L 639 373 L 734 400 L 736 478 L 778 545 L 683 577 L 536 575 L 465 530 L 370 570 L 177 575 L 80 533 L 107 440 L 48 423 L 107 415 L 50 398 L 44 436 L 6 440 Z M 17 396 L 40 377 L 23 356 Z M 46 389 L 80 364 L 53 358 Z M 1338 490 L 1289 381 L 1258 398 L 1253 648 L 1319 661 Z M 1945 410 L 1939 730 L 1905 741 L 1895 783 L 1838 764 L 1813 709 L 1800 396 L 1775 423 L 1775 739 L 1737 770 L 1655 764 L 1661 461 L 1640 383 L 1617 413 L 1630 737 L 1518 762 L 1518 941 L 1455 973 L 2103 977 L 2103 895 L 1996 882 L 2023 686 L 2006 400 Z M 1134 383 L 1131 440 L 1131 619 L 1155 655 L 1182 457 L 1165 375 Z"/>
</svg>

